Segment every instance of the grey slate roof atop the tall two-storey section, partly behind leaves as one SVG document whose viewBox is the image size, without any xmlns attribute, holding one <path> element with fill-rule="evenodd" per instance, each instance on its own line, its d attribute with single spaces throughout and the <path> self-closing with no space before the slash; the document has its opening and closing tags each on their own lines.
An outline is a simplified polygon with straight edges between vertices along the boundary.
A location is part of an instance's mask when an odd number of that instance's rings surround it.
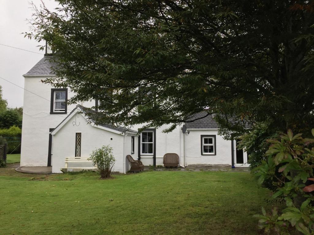
<svg viewBox="0 0 314 235">
<path fill-rule="evenodd" d="M 53 58 L 52 55 L 44 55 L 44 57 L 38 61 L 37 64 L 33 68 L 30 69 L 23 76 L 31 76 L 31 75 L 54 75 L 51 67 L 56 67 L 58 65 L 57 62 L 50 61 Z"/>
</svg>

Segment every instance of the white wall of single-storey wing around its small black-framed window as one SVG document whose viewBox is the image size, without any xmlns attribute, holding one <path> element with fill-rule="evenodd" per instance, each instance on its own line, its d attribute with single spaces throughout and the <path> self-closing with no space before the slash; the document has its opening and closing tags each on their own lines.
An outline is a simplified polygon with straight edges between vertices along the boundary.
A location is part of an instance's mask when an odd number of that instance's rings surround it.
<svg viewBox="0 0 314 235">
<path fill-rule="evenodd" d="M 216 155 L 201 155 L 201 135 L 216 135 Z M 231 165 L 231 141 L 217 130 L 190 130 L 185 136 L 186 165 Z"/>
</svg>

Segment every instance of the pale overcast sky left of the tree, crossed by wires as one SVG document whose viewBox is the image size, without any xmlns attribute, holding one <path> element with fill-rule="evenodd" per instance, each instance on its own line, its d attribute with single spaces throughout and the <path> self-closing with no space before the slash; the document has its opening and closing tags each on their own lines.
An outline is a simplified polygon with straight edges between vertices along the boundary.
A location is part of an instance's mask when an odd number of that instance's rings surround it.
<svg viewBox="0 0 314 235">
<path fill-rule="evenodd" d="M 26 18 L 32 16 L 32 9 L 27 0 L 0 0 L 0 44 L 30 50 L 42 55 L 28 51 L 18 50 L 0 45 L 0 77 L 24 87 L 23 74 L 27 73 L 44 55 L 36 47 L 39 45 L 35 40 L 24 38 L 22 32 L 29 32 Z M 39 6 L 40 0 L 33 0 Z M 44 0 L 46 7 L 53 10 L 57 7 L 54 0 Z M 3 97 L 8 101 L 9 107 L 23 106 L 24 90 L 4 81 L 0 78 L 3 89 Z M 27 92 L 27 91 L 25 91 Z"/>
</svg>

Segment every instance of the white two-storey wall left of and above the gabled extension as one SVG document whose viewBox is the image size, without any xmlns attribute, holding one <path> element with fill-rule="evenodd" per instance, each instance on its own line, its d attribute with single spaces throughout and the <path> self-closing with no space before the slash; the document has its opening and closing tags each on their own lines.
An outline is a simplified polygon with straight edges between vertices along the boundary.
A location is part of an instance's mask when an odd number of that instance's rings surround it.
<svg viewBox="0 0 314 235">
<path fill-rule="evenodd" d="M 50 114 L 53 87 L 41 83 L 46 78 L 25 77 L 24 88 L 43 98 L 24 92 L 21 166 L 47 166 L 49 128 L 55 128 L 76 106 L 68 105 L 67 114 Z M 68 98 L 72 96 L 73 93 L 68 90 Z M 82 105 L 92 107 L 95 102 L 84 102 Z"/>
</svg>

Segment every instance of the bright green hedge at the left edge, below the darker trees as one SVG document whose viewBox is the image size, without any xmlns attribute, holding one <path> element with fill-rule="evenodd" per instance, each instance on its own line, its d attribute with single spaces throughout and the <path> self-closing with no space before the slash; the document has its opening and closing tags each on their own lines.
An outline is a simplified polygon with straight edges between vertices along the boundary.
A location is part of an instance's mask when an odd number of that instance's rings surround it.
<svg viewBox="0 0 314 235">
<path fill-rule="evenodd" d="M 0 137 L 4 138 L 4 142 L 8 143 L 7 153 L 21 152 L 21 135 L 22 130 L 19 127 L 13 126 L 9 129 L 0 129 Z"/>
</svg>

